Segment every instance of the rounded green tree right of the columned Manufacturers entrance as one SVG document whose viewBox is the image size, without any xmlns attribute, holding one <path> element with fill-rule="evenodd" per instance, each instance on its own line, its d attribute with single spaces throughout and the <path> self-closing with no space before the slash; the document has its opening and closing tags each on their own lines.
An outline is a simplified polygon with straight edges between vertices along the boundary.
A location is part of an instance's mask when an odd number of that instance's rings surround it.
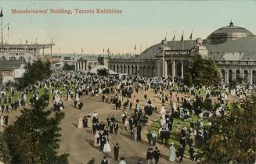
<svg viewBox="0 0 256 164">
<path fill-rule="evenodd" d="M 193 77 L 192 83 L 195 86 L 211 86 L 221 81 L 217 64 L 212 59 L 202 58 L 201 55 L 196 55 L 189 60 L 187 71 Z"/>
</svg>

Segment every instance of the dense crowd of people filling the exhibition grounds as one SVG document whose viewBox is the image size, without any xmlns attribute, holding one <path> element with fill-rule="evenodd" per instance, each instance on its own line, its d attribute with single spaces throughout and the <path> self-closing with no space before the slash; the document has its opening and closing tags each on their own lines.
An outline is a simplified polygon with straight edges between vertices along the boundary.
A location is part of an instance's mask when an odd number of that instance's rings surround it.
<svg viewBox="0 0 256 164">
<path fill-rule="evenodd" d="M 74 101 L 75 109 L 86 109 L 86 102 L 81 101 L 81 96 L 96 98 L 100 95 L 102 103 L 112 104 L 114 110 L 121 110 L 121 123 L 134 141 L 142 141 L 143 127 L 150 125 L 149 117 L 155 115 L 154 112 L 160 113 L 159 130 L 149 130 L 146 135 L 150 145 L 145 157 L 147 163 L 157 163 L 160 160 L 161 153 L 157 148 L 157 139 L 161 144 L 170 146 L 170 161 L 175 161 L 178 157 L 178 162 L 182 162 L 186 147 L 189 147 L 190 159 L 195 160 L 195 148 L 200 148 L 211 137 L 208 130 L 211 123 L 204 125 L 203 119 L 213 115 L 225 115 L 225 105 L 230 96 L 237 99 L 247 98 L 256 87 L 240 85 L 232 89 L 227 86 L 188 87 L 182 83 L 181 78 L 175 77 L 174 80 L 172 81 L 171 77 L 102 77 L 88 76 L 81 72 L 53 73 L 51 78 L 38 81 L 32 86 L 23 88 L 22 91 L 17 91 L 14 87 L 2 87 L 0 123 L 7 126 L 10 110 L 25 106 L 27 102 L 33 105 L 41 95 L 41 90 L 45 93 L 42 94 L 45 102 L 49 103 L 52 98 L 52 110 L 55 112 L 65 111 L 66 100 Z M 150 94 L 150 89 L 155 96 Z M 146 93 L 144 102 L 136 96 L 139 91 Z M 19 95 L 15 100 L 16 94 Z M 159 101 L 156 98 L 159 98 Z M 203 105 L 207 100 L 211 100 L 216 108 L 210 106 L 211 109 L 207 109 L 207 106 Z M 160 102 L 160 108 L 157 108 L 157 102 Z M 193 115 L 197 115 L 200 119 L 193 120 Z M 112 115 L 106 120 L 99 121 L 99 113 L 88 113 L 87 116 L 78 119 L 78 128 L 92 130 L 93 145 L 99 148 L 99 151 L 108 153 L 111 152 L 110 135 L 118 135 L 120 125 L 117 119 L 119 117 Z M 175 119 L 189 122 L 190 126 L 174 123 Z M 170 141 L 171 135 L 179 138 L 177 151 L 173 141 Z M 119 160 L 119 146 L 121 145 L 116 143 L 113 148 L 115 160 Z M 122 156 L 120 163 L 124 163 L 124 160 Z M 102 163 L 107 163 L 106 161 L 105 158 Z M 138 163 L 142 163 L 142 160 L 140 159 Z"/>
</svg>

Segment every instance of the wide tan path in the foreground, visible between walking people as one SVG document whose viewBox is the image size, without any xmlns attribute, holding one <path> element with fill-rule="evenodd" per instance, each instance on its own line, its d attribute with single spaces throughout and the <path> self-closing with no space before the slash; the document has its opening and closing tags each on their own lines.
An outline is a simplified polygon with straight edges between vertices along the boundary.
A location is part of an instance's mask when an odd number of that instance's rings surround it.
<svg viewBox="0 0 256 164">
<path fill-rule="evenodd" d="M 150 96 L 156 96 L 150 91 Z M 139 91 L 137 98 L 140 100 L 140 104 L 144 103 L 143 95 L 148 94 L 149 91 Z M 156 98 L 157 99 L 157 98 Z M 128 164 L 135 164 L 138 159 L 142 159 L 145 162 L 146 150 L 149 148 L 149 144 L 146 140 L 147 126 L 142 128 L 142 141 L 133 141 L 131 139 L 130 132 L 124 130 L 124 125 L 121 123 L 121 110 L 116 110 L 114 105 L 106 104 L 101 102 L 101 96 L 92 98 L 90 96 L 83 96 L 81 98 L 85 102 L 85 106 L 82 110 L 74 109 L 73 101 L 65 102 L 65 113 L 66 116 L 60 123 L 61 130 L 61 144 L 59 152 L 70 153 L 69 162 L 70 163 L 87 163 L 91 157 L 96 158 L 96 163 L 100 163 L 103 156 L 106 155 L 110 163 L 114 162 L 114 152 L 104 154 L 99 152 L 99 148 L 93 146 L 94 137 L 92 135 L 92 130 L 88 129 L 78 129 L 78 118 L 85 116 L 88 112 L 98 112 L 99 121 L 103 120 L 106 123 L 106 117 L 108 115 L 113 115 L 116 117 L 119 123 L 119 130 L 117 136 L 110 134 L 110 146 L 113 149 L 115 143 L 120 145 L 120 156 L 125 157 L 125 161 Z M 160 108 L 160 103 L 157 102 L 158 109 Z M 131 113 L 131 111 L 128 111 Z M 153 113 L 150 116 L 150 122 L 152 123 L 154 119 L 160 117 L 160 114 Z M 157 144 L 162 153 L 162 158 L 160 159 L 160 164 L 171 163 L 168 161 L 169 148 L 166 148 L 160 144 Z M 184 160 L 184 163 L 193 163 L 189 160 Z"/>
</svg>

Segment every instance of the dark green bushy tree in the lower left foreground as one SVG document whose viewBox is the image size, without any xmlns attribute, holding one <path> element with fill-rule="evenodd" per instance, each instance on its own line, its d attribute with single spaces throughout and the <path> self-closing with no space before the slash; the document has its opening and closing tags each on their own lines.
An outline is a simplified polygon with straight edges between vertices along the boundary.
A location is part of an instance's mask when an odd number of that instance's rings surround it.
<svg viewBox="0 0 256 164">
<path fill-rule="evenodd" d="M 32 109 L 23 109 L 16 122 L 5 128 L 3 138 L 12 156 L 11 163 L 68 163 L 67 154 L 56 152 L 61 130 L 58 125 L 64 113 L 50 116 L 45 105 L 39 98 Z"/>
</svg>

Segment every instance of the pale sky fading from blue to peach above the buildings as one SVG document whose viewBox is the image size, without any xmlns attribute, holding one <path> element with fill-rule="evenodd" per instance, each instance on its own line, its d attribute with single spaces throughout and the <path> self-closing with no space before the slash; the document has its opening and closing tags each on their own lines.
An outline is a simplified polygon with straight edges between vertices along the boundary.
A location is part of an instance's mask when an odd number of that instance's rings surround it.
<svg viewBox="0 0 256 164">
<path fill-rule="evenodd" d="M 256 1 L 3 1 L 4 40 L 9 44 L 56 44 L 53 53 L 139 53 L 171 40 L 206 38 L 220 27 L 245 27 L 256 34 Z M 46 14 L 17 14 L 12 9 L 48 9 Z M 72 14 L 51 14 L 50 9 Z M 121 14 L 75 13 L 74 9 L 121 9 Z M 59 51 L 60 49 L 60 51 Z"/>
</svg>

